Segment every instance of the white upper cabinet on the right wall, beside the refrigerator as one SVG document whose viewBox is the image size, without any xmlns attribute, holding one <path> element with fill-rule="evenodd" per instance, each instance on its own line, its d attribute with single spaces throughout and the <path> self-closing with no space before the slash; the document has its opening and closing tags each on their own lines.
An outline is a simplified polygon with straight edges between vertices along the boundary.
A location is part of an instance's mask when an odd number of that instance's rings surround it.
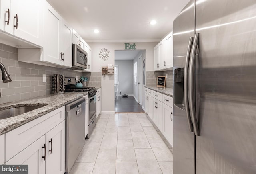
<svg viewBox="0 0 256 174">
<path fill-rule="evenodd" d="M 173 40 L 170 32 L 154 47 L 154 71 L 170 70 L 173 67 Z"/>
</svg>

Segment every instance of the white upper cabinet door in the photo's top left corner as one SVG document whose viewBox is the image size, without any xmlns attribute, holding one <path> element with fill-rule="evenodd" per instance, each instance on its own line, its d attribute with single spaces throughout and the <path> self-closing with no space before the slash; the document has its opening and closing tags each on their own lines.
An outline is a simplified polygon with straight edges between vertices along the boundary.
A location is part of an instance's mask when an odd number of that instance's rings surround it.
<svg viewBox="0 0 256 174">
<path fill-rule="evenodd" d="M 0 0 L 0 29 L 10 33 L 10 26 L 11 26 L 11 2 L 10 0 Z M 9 9 L 9 13 L 8 13 Z M 8 14 L 9 14 L 9 24 L 8 21 Z"/>
</svg>

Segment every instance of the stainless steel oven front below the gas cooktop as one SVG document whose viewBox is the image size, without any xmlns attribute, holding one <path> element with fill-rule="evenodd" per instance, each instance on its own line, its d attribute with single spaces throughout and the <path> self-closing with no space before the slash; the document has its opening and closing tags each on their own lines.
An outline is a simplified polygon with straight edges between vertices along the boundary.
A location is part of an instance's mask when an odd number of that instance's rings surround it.
<svg viewBox="0 0 256 174">
<path fill-rule="evenodd" d="M 92 129 L 96 125 L 96 105 L 97 105 L 97 98 L 96 98 L 97 90 L 91 90 L 88 92 L 88 138 L 92 133 Z"/>
</svg>

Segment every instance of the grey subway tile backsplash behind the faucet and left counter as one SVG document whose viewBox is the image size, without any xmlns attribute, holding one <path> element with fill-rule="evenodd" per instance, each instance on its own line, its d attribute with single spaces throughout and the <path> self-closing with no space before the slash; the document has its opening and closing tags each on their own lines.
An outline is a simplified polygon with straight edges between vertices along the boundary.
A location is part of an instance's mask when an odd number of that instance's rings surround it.
<svg viewBox="0 0 256 174">
<path fill-rule="evenodd" d="M 86 76 L 89 78 L 87 86 L 101 86 L 101 72 L 82 73 L 20 62 L 18 49 L 2 43 L 0 43 L 0 61 L 12 79 L 9 83 L 2 83 L 0 79 L 1 104 L 51 94 L 53 74 L 64 74 L 66 77 Z M 43 74 L 46 74 L 46 82 L 42 82 Z"/>
</svg>

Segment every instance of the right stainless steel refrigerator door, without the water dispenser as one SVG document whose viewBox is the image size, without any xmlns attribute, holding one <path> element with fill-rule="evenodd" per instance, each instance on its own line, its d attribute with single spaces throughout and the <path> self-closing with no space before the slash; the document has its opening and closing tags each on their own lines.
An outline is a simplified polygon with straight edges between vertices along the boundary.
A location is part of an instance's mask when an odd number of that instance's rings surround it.
<svg viewBox="0 0 256 174">
<path fill-rule="evenodd" d="M 255 0 L 196 0 L 196 174 L 256 173 L 255 9 Z"/>
</svg>

